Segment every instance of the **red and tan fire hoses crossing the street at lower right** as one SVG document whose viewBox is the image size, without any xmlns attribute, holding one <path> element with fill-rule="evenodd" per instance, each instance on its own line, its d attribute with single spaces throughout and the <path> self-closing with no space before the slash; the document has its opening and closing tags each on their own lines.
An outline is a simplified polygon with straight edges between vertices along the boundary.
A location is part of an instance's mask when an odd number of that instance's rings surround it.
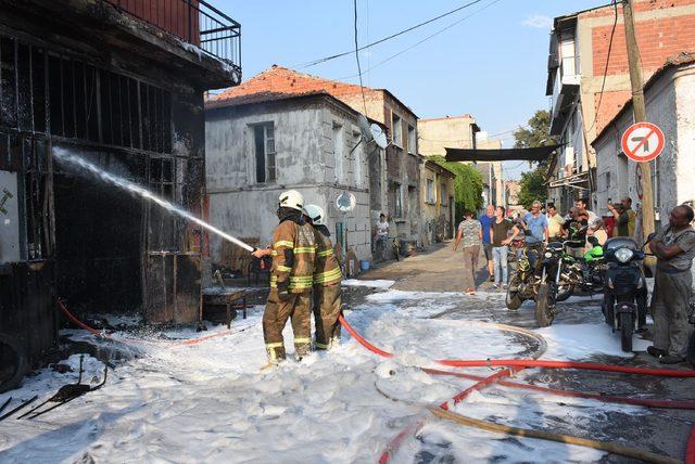
<svg viewBox="0 0 695 464">
<path fill-rule="evenodd" d="M 388 351 L 384 351 L 375 345 L 370 344 L 357 331 L 355 331 L 345 320 L 345 318 L 340 315 L 340 323 L 343 327 L 367 350 L 379 355 L 384 358 L 393 358 L 394 355 Z M 458 395 L 452 398 L 453 404 L 456 404 L 463 401 L 468 395 L 472 391 L 480 390 L 489 385 L 494 383 L 498 383 L 503 386 L 508 386 L 513 388 L 525 388 L 531 389 L 535 391 L 545 391 L 559 396 L 570 396 L 570 397 L 579 397 L 579 398 L 589 398 L 589 399 L 597 399 L 606 402 L 619 402 L 627 404 L 635 404 L 635 405 L 645 405 L 650 408 L 681 408 L 681 409 L 695 409 L 695 401 L 668 401 L 668 400 L 650 400 L 650 399 L 642 399 L 642 398 L 622 398 L 622 397 L 612 397 L 612 396 L 602 396 L 596 394 L 583 394 L 576 391 L 567 391 L 567 390 L 558 390 L 546 387 L 539 387 L 534 385 L 527 385 L 520 383 L 513 382 L 504 382 L 503 377 L 511 375 L 516 371 L 520 371 L 526 368 L 544 368 L 544 369 L 576 369 L 576 370 L 591 370 L 591 371 L 603 371 L 603 372 L 616 372 L 616 373 L 630 373 L 630 374 L 641 374 L 641 375 L 656 375 L 656 376 L 666 376 L 666 377 L 695 377 L 695 372 L 693 371 L 674 371 L 667 369 L 649 369 L 649 368 L 629 368 L 621 365 L 609 365 L 609 364 L 597 364 L 597 363 L 586 363 L 586 362 L 573 362 L 573 361 L 539 361 L 534 359 L 528 360 L 438 360 L 434 361 L 441 365 L 448 366 L 506 366 L 508 369 L 504 371 L 500 371 L 490 377 L 480 377 L 470 374 L 447 372 L 447 371 L 438 371 L 432 369 L 424 369 L 425 372 L 435 375 L 454 375 L 463 378 L 477 379 L 478 383 L 473 386 L 463 390 Z M 643 451 L 630 447 L 626 447 L 619 443 L 612 442 L 603 442 L 597 440 L 590 440 L 585 438 L 572 437 L 563 434 L 556 434 L 545 430 L 533 430 L 526 429 L 520 427 L 513 427 L 507 425 L 495 424 L 489 421 L 481 421 L 471 417 L 466 417 L 462 414 L 448 411 L 450 401 L 445 401 L 439 407 L 427 407 L 427 409 L 437 415 L 440 418 L 446 418 L 454 421 L 462 425 L 473 426 L 477 428 L 481 428 L 489 431 L 503 433 L 506 435 L 518 436 L 518 437 L 530 437 L 530 438 L 539 438 L 552 441 L 558 441 L 569 444 L 578 444 L 589 448 L 594 448 L 597 450 L 624 455 L 628 457 L 640 459 L 645 462 L 654 462 L 654 463 L 677 463 L 680 462 L 672 457 L 662 456 L 659 454 L 655 454 L 648 451 Z M 399 449 L 401 443 L 405 440 L 405 438 L 409 435 L 415 435 L 422 427 L 424 422 L 418 421 L 415 424 L 403 429 L 388 446 L 387 450 L 381 454 L 379 459 L 379 464 L 388 463 L 393 456 L 394 451 Z M 686 453 L 686 462 L 695 464 L 695 428 L 690 437 L 687 444 L 687 453 Z"/>
</svg>

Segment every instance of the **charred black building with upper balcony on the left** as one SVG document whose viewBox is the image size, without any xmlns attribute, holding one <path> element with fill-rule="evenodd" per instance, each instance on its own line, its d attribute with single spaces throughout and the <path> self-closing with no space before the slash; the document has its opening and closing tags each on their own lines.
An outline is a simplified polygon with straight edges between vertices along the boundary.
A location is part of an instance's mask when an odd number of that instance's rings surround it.
<svg viewBox="0 0 695 464">
<path fill-rule="evenodd" d="M 202 0 L 0 0 L 0 333 L 36 358 L 59 297 L 198 320 L 203 235 L 52 151 L 200 214 L 203 93 L 240 79 L 240 25 Z"/>
</svg>

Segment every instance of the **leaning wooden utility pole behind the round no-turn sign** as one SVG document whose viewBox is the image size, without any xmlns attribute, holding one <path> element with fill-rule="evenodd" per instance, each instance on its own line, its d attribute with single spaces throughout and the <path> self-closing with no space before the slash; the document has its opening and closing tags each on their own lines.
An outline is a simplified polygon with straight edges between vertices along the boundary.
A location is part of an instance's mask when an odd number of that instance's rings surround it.
<svg viewBox="0 0 695 464">
<path fill-rule="evenodd" d="M 647 109 L 644 104 L 644 83 L 642 80 L 642 59 L 634 33 L 633 0 L 622 0 L 622 16 L 626 24 L 626 44 L 628 46 L 628 63 L 630 66 L 630 83 L 632 85 L 632 112 L 635 123 L 647 120 Z M 642 169 L 642 233 L 646 237 L 654 232 L 654 194 L 652 192 L 652 166 L 640 163 Z"/>
</svg>

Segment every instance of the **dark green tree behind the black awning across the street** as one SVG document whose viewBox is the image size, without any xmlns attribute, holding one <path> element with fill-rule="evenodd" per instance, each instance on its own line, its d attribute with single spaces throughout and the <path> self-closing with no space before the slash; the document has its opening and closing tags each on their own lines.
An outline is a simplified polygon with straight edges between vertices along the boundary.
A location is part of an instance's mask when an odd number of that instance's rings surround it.
<svg viewBox="0 0 695 464">
<path fill-rule="evenodd" d="M 514 132 L 515 149 L 531 149 L 535 146 L 548 146 L 555 144 L 551 136 L 551 114 L 539 109 L 529 119 L 528 127 L 520 127 Z M 547 160 L 535 163 L 533 170 L 521 175 L 519 182 L 519 203 L 525 208 L 530 209 L 535 201 L 545 202 L 547 199 L 547 186 L 545 175 L 547 172 Z"/>
</svg>

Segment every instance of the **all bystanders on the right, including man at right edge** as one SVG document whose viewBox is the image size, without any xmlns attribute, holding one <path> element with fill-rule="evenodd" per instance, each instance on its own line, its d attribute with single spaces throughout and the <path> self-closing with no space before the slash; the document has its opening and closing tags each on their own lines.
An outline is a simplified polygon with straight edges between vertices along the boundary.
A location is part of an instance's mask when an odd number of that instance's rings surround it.
<svg viewBox="0 0 695 464">
<path fill-rule="evenodd" d="M 476 292 L 475 272 L 480 248 L 488 260 L 486 270 L 494 288 L 505 289 L 508 246 L 515 241 L 523 240 L 527 249 L 538 250 L 548 242 L 561 241 L 567 245 L 567 253 L 581 257 L 587 249 L 604 245 L 609 237 L 636 237 L 636 214 L 631 198 L 609 203 L 608 211 L 610 215 L 602 219 L 587 209 L 584 199 L 578 199 L 566 215 L 561 215 L 556 205 L 544 206 L 540 202 L 533 202 L 530 211 L 516 215 L 507 215 L 504 207 L 493 205 L 488 205 L 478 218 L 471 211 L 465 211 L 453 248 L 464 248 L 466 293 Z M 646 237 L 648 252 L 656 258 L 650 302 L 654 345 L 647 352 L 664 364 L 684 361 L 693 335 L 694 218 L 691 206 L 679 205 L 671 210 L 668 223 L 660 232 Z M 591 236 L 595 240 L 587 240 Z"/>
</svg>

